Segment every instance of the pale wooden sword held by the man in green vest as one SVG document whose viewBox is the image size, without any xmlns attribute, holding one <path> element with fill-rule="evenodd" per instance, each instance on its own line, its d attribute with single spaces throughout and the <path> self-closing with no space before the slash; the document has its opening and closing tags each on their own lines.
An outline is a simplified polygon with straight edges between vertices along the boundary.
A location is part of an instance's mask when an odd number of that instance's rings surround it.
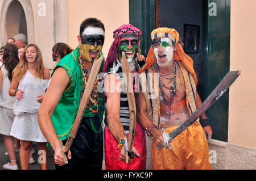
<svg viewBox="0 0 256 181">
<path fill-rule="evenodd" d="M 82 96 L 82 100 L 79 104 L 79 111 L 77 112 L 76 119 L 73 124 L 73 128 L 71 130 L 71 133 L 68 137 L 68 140 L 67 140 L 65 146 L 63 146 L 63 157 L 64 157 L 65 163 L 68 163 L 66 155 L 68 154 L 68 151 L 72 146 L 73 140 L 76 137 L 76 133 L 77 133 L 80 123 L 82 121 L 82 115 L 84 115 L 84 111 L 87 107 L 88 100 L 90 99 L 90 95 L 92 94 L 93 85 L 98 76 L 98 71 L 100 70 L 103 58 L 104 58 L 104 56 L 101 56 L 100 58 L 98 58 L 97 60 L 95 60 L 93 62 L 93 66 L 90 71 L 89 79 L 88 79 L 88 82 L 86 83 L 84 95 Z M 61 140 L 59 140 L 59 142 L 62 145 Z"/>
</svg>

